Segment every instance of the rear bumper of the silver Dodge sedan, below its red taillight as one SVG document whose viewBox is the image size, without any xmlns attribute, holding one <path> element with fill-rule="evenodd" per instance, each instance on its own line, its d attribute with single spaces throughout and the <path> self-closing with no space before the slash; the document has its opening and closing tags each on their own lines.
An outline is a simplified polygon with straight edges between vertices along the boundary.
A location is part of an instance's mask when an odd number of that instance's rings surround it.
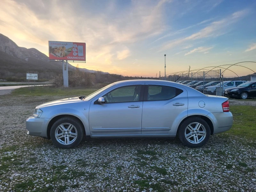
<svg viewBox="0 0 256 192">
<path fill-rule="evenodd" d="M 233 125 L 231 112 L 209 113 L 207 116 L 213 121 L 213 135 L 228 131 Z"/>
</svg>

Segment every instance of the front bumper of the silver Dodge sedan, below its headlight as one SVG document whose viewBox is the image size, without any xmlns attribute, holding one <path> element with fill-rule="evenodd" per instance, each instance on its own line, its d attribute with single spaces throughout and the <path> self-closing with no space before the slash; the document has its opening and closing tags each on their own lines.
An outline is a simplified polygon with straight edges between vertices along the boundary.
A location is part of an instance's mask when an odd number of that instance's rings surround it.
<svg viewBox="0 0 256 192">
<path fill-rule="evenodd" d="M 28 117 L 26 120 L 27 134 L 47 138 L 47 125 L 51 119 Z"/>
</svg>

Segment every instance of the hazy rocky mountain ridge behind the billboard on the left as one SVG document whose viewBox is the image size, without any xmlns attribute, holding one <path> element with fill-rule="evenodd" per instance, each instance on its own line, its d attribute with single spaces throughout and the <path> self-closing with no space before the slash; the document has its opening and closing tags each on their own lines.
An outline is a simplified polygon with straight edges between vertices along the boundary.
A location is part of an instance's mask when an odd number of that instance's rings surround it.
<svg viewBox="0 0 256 192">
<path fill-rule="evenodd" d="M 69 71 L 76 69 L 68 63 Z M 97 72 L 86 68 L 79 70 L 87 73 Z M 61 72 L 62 62 L 50 62 L 48 56 L 37 49 L 19 47 L 11 39 L 0 34 L 0 79 L 11 76 L 22 78 L 26 77 L 26 73 L 39 73 L 40 78 L 50 79 Z"/>
</svg>

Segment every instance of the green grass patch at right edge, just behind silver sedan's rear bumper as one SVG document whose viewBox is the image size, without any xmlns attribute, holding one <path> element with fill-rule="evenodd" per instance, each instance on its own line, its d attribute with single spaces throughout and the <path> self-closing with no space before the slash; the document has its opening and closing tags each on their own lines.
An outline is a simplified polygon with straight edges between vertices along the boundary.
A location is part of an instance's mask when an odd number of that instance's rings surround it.
<svg viewBox="0 0 256 192">
<path fill-rule="evenodd" d="M 254 134 L 256 131 L 256 116 L 252 115 L 256 113 L 256 107 L 241 105 L 230 106 L 230 111 L 234 117 L 234 124 L 226 133 L 256 140 L 256 134 Z"/>
</svg>

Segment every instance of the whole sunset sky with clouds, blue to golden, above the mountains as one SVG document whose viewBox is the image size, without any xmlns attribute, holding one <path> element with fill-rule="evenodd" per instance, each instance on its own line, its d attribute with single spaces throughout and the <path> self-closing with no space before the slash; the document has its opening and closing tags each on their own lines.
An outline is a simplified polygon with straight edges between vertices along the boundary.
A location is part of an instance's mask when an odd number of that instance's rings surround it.
<svg viewBox="0 0 256 192">
<path fill-rule="evenodd" d="M 166 74 L 256 61 L 255 18 L 255 0 L 1 0 L 0 33 L 47 56 L 49 40 L 85 42 L 80 68 L 164 76 L 164 54 Z"/>
</svg>

